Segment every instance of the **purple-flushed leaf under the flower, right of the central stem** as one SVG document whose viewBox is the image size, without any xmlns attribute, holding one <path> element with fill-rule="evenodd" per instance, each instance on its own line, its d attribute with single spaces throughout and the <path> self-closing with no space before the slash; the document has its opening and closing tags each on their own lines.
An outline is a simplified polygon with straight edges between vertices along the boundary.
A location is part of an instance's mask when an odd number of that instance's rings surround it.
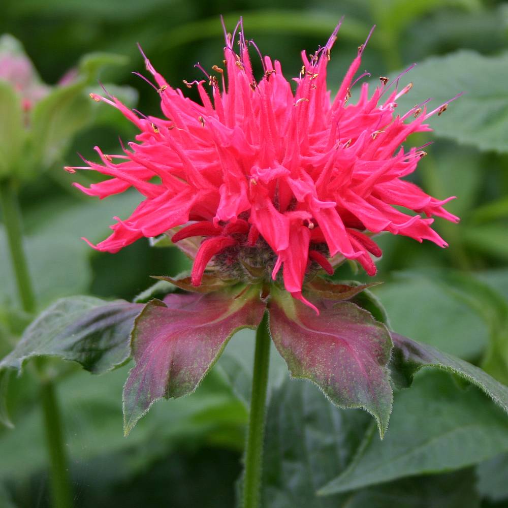
<svg viewBox="0 0 508 508">
<path fill-rule="evenodd" d="M 274 289 L 270 333 L 294 377 L 309 379 L 339 407 L 363 407 L 388 427 L 392 389 L 387 364 L 392 341 L 385 325 L 360 307 L 320 305 L 320 315 Z"/>
</svg>

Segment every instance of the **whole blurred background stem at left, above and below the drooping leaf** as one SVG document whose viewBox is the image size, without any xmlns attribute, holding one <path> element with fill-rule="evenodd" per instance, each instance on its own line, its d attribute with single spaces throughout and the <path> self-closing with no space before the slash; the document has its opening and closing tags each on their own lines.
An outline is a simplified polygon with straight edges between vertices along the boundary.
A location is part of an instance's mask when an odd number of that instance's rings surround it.
<svg viewBox="0 0 508 508">
<path fill-rule="evenodd" d="M 36 300 L 23 248 L 23 223 L 13 179 L 0 182 L 0 205 L 19 300 L 25 312 L 33 313 L 36 308 Z M 67 457 L 63 447 L 62 423 L 55 387 L 51 379 L 44 378 L 42 362 L 39 362 L 37 370 L 41 379 L 40 396 L 51 469 L 53 506 L 54 508 L 71 508 L 71 484 Z"/>
</svg>

